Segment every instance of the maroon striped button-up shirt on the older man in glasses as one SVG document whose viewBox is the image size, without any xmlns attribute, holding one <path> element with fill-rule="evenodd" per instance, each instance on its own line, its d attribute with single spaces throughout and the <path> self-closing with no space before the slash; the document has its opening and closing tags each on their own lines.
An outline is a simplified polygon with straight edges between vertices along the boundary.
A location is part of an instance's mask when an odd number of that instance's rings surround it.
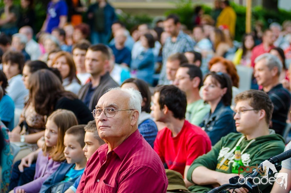
<svg viewBox="0 0 291 193">
<path fill-rule="evenodd" d="M 139 130 L 107 152 L 104 144 L 89 159 L 77 193 L 166 192 L 162 161 Z"/>
</svg>

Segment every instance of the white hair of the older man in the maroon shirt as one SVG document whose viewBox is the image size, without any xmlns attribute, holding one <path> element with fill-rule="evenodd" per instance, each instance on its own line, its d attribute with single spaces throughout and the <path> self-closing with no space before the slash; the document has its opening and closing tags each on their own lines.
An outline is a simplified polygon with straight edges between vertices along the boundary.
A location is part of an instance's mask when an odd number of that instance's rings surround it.
<svg viewBox="0 0 291 193">
<path fill-rule="evenodd" d="M 115 87 L 115 88 L 110 88 L 108 90 L 121 90 L 124 91 L 125 93 L 129 94 L 129 101 L 128 101 L 128 107 L 129 109 L 134 109 L 138 110 L 139 114 L 142 111 L 142 95 L 138 90 L 135 90 L 133 88 L 120 88 L 120 87 Z"/>
</svg>

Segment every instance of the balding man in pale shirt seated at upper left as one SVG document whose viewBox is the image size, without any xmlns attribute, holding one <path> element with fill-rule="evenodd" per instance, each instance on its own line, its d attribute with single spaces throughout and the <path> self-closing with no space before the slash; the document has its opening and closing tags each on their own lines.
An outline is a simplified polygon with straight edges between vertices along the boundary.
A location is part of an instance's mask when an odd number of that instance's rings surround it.
<svg viewBox="0 0 291 193">
<path fill-rule="evenodd" d="M 19 33 L 25 35 L 27 38 L 28 42 L 26 43 L 25 51 L 29 54 L 30 59 L 37 60 L 42 53 L 39 48 L 39 44 L 32 39 L 33 29 L 26 25 L 19 29 Z"/>
</svg>

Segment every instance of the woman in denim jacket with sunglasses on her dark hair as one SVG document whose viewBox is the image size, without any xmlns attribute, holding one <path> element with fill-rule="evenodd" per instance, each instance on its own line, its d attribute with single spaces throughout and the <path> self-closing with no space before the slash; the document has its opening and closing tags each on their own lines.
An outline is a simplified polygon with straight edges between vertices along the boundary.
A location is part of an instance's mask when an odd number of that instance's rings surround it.
<svg viewBox="0 0 291 193">
<path fill-rule="evenodd" d="M 199 125 L 209 135 L 212 146 L 221 137 L 236 132 L 233 111 L 230 108 L 232 84 L 229 75 L 210 72 L 203 81 L 203 100 L 210 105 L 210 112 Z"/>
</svg>

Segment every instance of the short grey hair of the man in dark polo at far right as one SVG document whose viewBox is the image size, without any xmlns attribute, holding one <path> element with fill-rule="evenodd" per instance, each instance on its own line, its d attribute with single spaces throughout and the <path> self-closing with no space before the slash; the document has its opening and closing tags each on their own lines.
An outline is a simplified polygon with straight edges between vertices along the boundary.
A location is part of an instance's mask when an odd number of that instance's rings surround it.
<svg viewBox="0 0 291 193">
<path fill-rule="evenodd" d="M 255 63 L 259 62 L 262 59 L 266 60 L 265 65 L 269 68 L 269 70 L 272 70 L 274 67 L 277 67 L 278 68 L 278 76 L 280 75 L 280 73 L 282 72 L 282 69 L 283 69 L 283 64 L 277 56 L 274 56 L 270 53 L 264 53 L 264 54 L 256 57 Z"/>
</svg>

